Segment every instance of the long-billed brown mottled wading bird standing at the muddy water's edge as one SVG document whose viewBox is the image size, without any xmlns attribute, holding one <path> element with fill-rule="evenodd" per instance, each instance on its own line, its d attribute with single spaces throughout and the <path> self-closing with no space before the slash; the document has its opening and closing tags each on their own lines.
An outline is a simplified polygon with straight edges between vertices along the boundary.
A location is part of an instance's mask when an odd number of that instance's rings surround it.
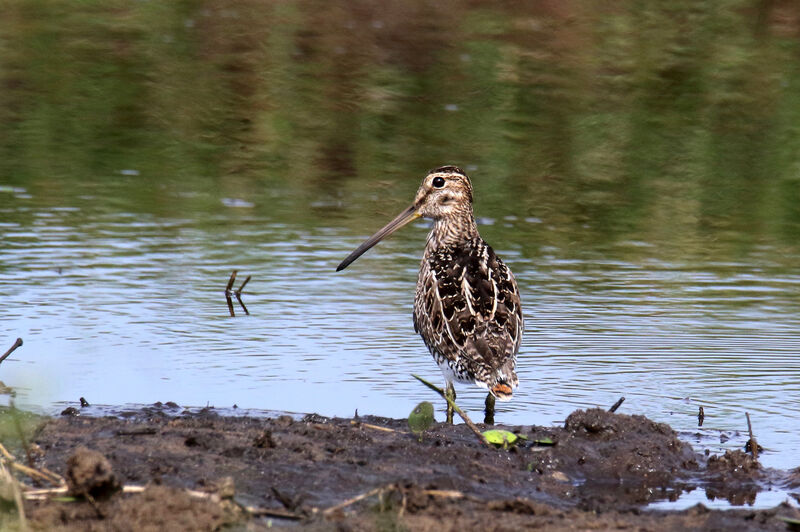
<svg viewBox="0 0 800 532">
<path fill-rule="evenodd" d="M 495 399 L 509 401 L 519 379 L 517 352 L 524 318 L 508 266 L 478 233 L 472 182 L 457 166 L 428 172 L 413 203 L 365 240 L 336 268 L 341 271 L 412 220 L 430 218 L 414 297 L 414 330 L 438 364 L 445 395 L 454 382 L 486 389 L 484 423 L 494 423 Z M 446 420 L 453 422 L 448 401 Z"/>
</svg>

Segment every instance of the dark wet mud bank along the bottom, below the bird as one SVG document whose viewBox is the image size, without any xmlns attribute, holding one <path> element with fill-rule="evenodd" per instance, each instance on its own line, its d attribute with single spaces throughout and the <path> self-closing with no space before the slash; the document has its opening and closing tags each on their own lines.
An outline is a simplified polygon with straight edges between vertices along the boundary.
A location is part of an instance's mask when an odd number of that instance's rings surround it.
<svg viewBox="0 0 800 532">
<path fill-rule="evenodd" d="M 800 475 L 740 451 L 708 458 L 643 416 L 579 410 L 564 428 L 501 428 L 528 440 L 488 448 L 464 425 L 435 424 L 419 441 L 405 420 L 376 417 L 62 416 L 35 438 L 38 465 L 93 496 L 25 509 L 45 530 L 786 530 L 777 516 L 800 518 L 789 505 L 646 509 L 695 489 L 741 504 L 768 484 L 797 488 Z"/>
</svg>

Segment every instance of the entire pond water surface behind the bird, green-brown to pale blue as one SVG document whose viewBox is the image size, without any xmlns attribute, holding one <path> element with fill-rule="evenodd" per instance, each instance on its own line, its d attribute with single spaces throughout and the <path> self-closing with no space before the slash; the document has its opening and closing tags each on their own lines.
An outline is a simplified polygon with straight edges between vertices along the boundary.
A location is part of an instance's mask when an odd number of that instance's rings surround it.
<svg viewBox="0 0 800 532">
<path fill-rule="evenodd" d="M 407 415 L 433 399 L 410 374 L 440 379 L 411 324 L 427 224 L 334 270 L 458 164 L 526 315 L 499 422 L 625 396 L 716 452 L 749 412 L 762 462 L 800 466 L 793 4 L 153 4 L 0 21 L 18 404 Z"/>
</svg>

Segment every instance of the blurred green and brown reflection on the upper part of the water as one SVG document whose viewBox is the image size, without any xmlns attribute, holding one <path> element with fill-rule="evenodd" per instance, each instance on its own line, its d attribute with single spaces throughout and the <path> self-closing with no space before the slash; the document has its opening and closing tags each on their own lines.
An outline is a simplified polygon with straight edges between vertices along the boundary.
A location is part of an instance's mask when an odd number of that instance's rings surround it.
<svg viewBox="0 0 800 532">
<path fill-rule="evenodd" d="M 78 226 L 364 234 L 455 163 L 479 215 L 518 217 L 485 228 L 496 247 L 780 261 L 800 242 L 798 20 L 741 0 L 11 0 L 0 183 Z M 628 241 L 656 251 L 609 247 Z"/>
</svg>

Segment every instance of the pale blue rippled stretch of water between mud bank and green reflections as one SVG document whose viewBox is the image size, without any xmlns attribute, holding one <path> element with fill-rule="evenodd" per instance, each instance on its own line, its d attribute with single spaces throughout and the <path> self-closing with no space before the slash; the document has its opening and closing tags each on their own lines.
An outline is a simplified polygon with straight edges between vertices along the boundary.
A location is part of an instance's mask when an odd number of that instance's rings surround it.
<svg viewBox="0 0 800 532">
<path fill-rule="evenodd" d="M 337 274 L 359 239 L 337 243 L 330 228 L 253 215 L 212 233 L 185 219 L 107 214 L 64 231 L 72 215 L 3 235 L 0 295 L 18 304 L 7 306 L 1 327 L 25 338 L 27 361 L 4 364 L 4 380 L 27 386 L 29 403 L 169 397 L 400 417 L 430 398 L 411 373 L 440 379 L 411 324 L 420 235 L 387 241 Z M 641 244 L 623 248 L 647 253 Z M 703 406 L 706 426 L 731 437 L 694 445 L 718 452 L 744 445 L 749 411 L 767 448 L 763 462 L 800 465 L 789 421 L 800 415 L 796 272 L 548 253 L 509 255 L 527 331 L 521 385 L 499 419 L 560 423 L 575 408 L 608 407 L 624 395 L 620 412 L 690 431 Z M 244 293 L 251 315 L 236 319 L 222 293 L 233 269 L 252 276 Z M 50 389 L 37 392 L 33 382 Z M 460 388 L 459 398 L 482 408 L 477 388 Z"/>
</svg>

